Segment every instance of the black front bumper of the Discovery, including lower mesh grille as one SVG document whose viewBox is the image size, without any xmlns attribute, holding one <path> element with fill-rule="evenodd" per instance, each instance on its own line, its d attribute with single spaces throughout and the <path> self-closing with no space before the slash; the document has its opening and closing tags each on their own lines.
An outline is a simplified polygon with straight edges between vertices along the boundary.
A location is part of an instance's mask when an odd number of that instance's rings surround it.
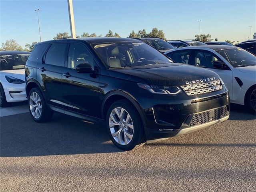
<svg viewBox="0 0 256 192">
<path fill-rule="evenodd" d="M 139 101 L 144 110 L 144 130 L 148 143 L 218 124 L 229 117 L 230 101 L 225 89 L 196 97 L 182 93 L 160 98 Z"/>
</svg>

